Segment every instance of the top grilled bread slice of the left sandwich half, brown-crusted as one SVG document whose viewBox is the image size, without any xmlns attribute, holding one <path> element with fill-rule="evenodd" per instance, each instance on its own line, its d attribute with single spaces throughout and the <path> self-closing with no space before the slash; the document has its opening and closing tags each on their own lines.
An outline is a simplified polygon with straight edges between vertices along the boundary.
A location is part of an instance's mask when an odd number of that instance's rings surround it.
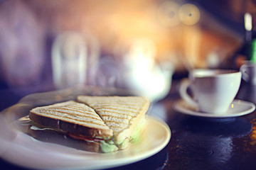
<svg viewBox="0 0 256 170">
<path fill-rule="evenodd" d="M 75 101 L 33 108 L 29 118 L 43 127 L 69 132 L 72 135 L 102 139 L 110 139 L 113 135 L 112 130 L 92 108 Z"/>
</svg>

